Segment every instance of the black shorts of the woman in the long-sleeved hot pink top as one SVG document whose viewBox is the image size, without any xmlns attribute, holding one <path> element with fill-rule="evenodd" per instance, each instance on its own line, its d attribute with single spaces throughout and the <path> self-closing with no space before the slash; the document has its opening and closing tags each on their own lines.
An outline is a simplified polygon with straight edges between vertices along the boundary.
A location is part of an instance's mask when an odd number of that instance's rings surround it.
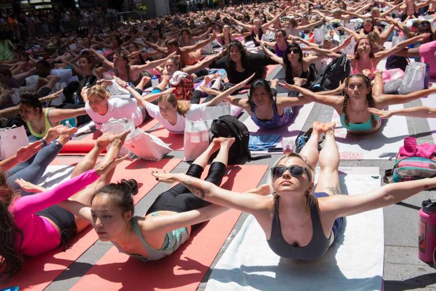
<svg viewBox="0 0 436 291">
<path fill-rule="evenodd" d="M 53 221 L 61 230 L 61 244 L 64 250 L 70 246 L 70 241 L 77 232 L 74 215 L 64 208 L 53 205 L 36 212 L 36 215 L 46 217 Z"/>
</svg>

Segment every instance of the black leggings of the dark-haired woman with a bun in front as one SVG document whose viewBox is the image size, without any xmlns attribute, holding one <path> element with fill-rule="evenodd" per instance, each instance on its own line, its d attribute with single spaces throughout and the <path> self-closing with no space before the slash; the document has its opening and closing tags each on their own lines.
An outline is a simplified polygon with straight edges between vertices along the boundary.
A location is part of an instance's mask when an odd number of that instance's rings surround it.
<svg viewBox="0 0 436 291">
<path fill-rule="evenodd" d="M 200 178 L 203 170 L 204 169 L 201 166 L 191 164 L 186 174 L 191 177 Z M 205 180 L 220 186 L 225 171 L 226 165 L 221 162 L 213 162 L 210 165 L 209 172 Z M 210 202 L 204 201 L 203 199 L 193 195 L 188 188 L 179 183 L 157 197 L 151 207 L 147 210 L 147 215 L 161 210 L 180 213 L 203 208 L 210 204 Z"/>
</svg>

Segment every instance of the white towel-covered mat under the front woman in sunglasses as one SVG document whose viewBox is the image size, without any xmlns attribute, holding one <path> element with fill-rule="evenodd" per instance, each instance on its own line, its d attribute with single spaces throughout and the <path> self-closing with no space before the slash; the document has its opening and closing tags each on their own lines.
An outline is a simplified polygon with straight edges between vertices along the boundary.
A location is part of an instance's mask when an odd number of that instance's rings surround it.
<svg viewBox="0 0 436 291">
<path fill-rule="evenodd" d="M 380 187 L 379 168 L 340 168 L 341 189 L 355 195 Z M 376 178 L 372 178 L 376 177 Z M 381 290 L 383 210 L 349 216 L 326 255 L 316 261 L 280 258 L 253 216 L 215 265 L 206 291 Z"/>
</svg>

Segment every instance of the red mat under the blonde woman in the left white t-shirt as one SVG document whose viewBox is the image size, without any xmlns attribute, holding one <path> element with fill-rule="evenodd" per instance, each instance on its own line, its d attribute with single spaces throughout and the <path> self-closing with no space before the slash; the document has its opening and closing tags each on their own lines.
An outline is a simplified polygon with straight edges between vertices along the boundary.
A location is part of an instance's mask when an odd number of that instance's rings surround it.
<svg viewBox="0 0 436 291">
<path fill-rule="evenodd" d="M 145 121 L 143 124 L 138 126 L 138 128 L 143 131 L 147 131 L 151 129 L 153 126 L 158 124 L 159 122 L 155 119 L 150 119 Z M 89 130 L 89 128 L 88 128 Z M 100 130 L 95 130 L 89 134 L 86 134 L 84 137 L 78 135 L 77 139 L 71 140 L 64 145 L 60 152 L 60 156 L 68 153 L 78 153 L 78 154 L 86 154 L 88 153 L 95 145 L 95 141 L 102 135 Z"/>
</svg>

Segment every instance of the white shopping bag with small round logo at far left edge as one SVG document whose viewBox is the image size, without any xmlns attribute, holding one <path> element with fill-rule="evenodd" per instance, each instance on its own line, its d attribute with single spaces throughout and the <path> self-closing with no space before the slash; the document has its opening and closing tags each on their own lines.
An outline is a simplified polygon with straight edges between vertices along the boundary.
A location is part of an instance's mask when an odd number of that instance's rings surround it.
<svg viewBox="0 0 436 291">
<path fill-rule="evenodd" d="M 0 159 L 5 160 L 16 154 L 16 151 L 29 144 L 24 126 L 0 129 Z"/>
</svg>

